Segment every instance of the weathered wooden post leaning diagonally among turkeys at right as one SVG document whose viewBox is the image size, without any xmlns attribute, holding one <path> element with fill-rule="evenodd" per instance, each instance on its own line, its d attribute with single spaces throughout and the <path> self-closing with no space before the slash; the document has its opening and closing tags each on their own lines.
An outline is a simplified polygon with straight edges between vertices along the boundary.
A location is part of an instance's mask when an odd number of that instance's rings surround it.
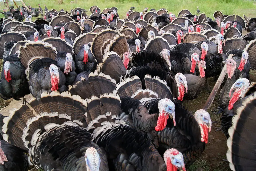
<svg viewBox="0 0 256 171">
<path fill-rule="evenodd" d="M 228 59 L 232 59 L 233 56 L 234 56 L 233 54 L 230 54 L 228 56 Z M 208 99 L 204 105 L 205 110 L 208 110 L 211 107 L 211 104 L 220 88 L 220 85 L 221 85 L 223 79 L 225 78 L 226 73 L 227 73 L 227 64 L 225 64 L 225 66 L 223 67 L 223 69 L 220 73 L 220 76 L 219 76 L 214 88 L 212 89 L 210 96 L 208 97 Z"/>
</svg>

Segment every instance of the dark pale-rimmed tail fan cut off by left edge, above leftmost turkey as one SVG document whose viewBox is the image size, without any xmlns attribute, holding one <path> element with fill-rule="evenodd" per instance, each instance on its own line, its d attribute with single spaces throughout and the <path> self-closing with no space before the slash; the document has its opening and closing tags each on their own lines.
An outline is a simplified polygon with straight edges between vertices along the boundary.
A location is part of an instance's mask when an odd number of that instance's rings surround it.
<svg viewBox="0 0 256 171">
<path fill-rule="evenodd" d="M 4 47 L 5 47 L 5 42 L 11 42 L 11 41 L 24 41 L 26 40 L 26 37 L 18 32 L 8 32 L 1 34 L 0 36 L 0 59 L 3 59 L 4 55 Z"/>
</svg>

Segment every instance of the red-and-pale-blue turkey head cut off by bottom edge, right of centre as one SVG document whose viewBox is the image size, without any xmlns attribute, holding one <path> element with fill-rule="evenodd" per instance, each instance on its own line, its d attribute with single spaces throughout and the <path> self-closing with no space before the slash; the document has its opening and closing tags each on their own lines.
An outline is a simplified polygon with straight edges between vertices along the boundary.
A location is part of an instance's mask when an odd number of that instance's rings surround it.
<svg viewBox="0 0 256 171">
<path fill-rule="evenodd" d="M 184 157 L 177 149 L 171 148 L 164 153 L 164 162 L 167 166 L 167 171 L 186 171 Z"/>
</svg>

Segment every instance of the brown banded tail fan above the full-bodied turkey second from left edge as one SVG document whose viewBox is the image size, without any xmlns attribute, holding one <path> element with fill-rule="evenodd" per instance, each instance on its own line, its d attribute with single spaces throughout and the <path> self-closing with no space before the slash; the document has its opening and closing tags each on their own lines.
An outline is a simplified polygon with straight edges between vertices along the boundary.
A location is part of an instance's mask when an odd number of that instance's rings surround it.
<svg viewBox="0 0 256 171">
<path fill-rule="evenodd" d="M 48 43 L 43 43 L 41 41 L 31 42 L 25 44 L 25 46 L 21 46 L 18 51 L 18 56 L 20 58 L 21 63 L 28 67 L 28 62 L 30 59 L 36 56 L 42 56 L 45 58 L 55 59 L 57 56 L 56 48 Z"/>
</svg>

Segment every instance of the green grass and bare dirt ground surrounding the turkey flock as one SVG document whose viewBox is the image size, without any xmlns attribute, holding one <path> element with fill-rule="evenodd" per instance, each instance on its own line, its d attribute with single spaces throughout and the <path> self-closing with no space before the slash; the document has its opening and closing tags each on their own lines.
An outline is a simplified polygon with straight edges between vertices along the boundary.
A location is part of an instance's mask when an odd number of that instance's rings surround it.
<svg viewBox="0 0 256 171">
<path fill-rule="evenodd" d="M 178 12 L 182 9 L 189 9 L 191 13 L 196 14 L 197 6 L 199 7 L 201 13 L 205 13 L 206 16 L 213 18 L 213 14 L 215 11 L 222 11 L 223 14 L 231 15 L 237 14 L 240 16 L 246 15 L 248 17 L 256 17 L 256 3 L 255 1 L 241 1 L 241 0 L 197 0 L 197 1 L 186 1 L 186 0 L 177 0 L 177 1 L 165 1 L 165 0 L 137 0 L 137 1 L 107 1 L 107 0 L 87 0 L 87 1 L 75 1 L 72 3 L 68 0 L 45 0 L 45 1 L 24 1 L 26 4 L 30 4 L 32 7 L 38 7 L 38 3 L 41 3 L 41 7 L 44 9 L 44 4 L 47 5 L 48 9 L 55 8 L 57 10 L 65 9 L 69 10 L 81 7 L 89 11 L 89 8 L 93 5 L 97 5 L 103 10 L 106 7 L 115 6 L 118 8 L 118 14 L 120 18 L 126 17 L 126 12 L 130 9 L 131 6 L 135 6 L 137 9 L 134 11 L 141 12 L 145 7 L 155 8 L 156 10 L 160 8 L 166 8 L 169 12 L 173 14 L 178 14 Z M 9 5 L 13 3 L 10 2 Z M 20 2 L 17 4 L 22 5 Z M 0 2 L 0 9 L 5 8 L 3 2 Z M 88 16 L 91 12 L 87 12 Z M 4 17 L 3 14 L 0 14 L 0 18 Z M 33 20 L 35 18 L 33 17 Z M 247 33 L 247 32 L 246 32 Z M 244 33 L 244 34 L 246 34 Z M 243 35 L 244 35 L 243 34 Z M 3 59 L 0 60 L 0 67 L 3 68 Z M 2 70 L 1 70 L 2 71 Z M 210 88 L 212 89 L 216 83 L 214 78 L 210 78 L 209 80 Z M 251 70 L 250 72 L 250 82 L 256 82 L 256 72 Z M 206 85 L 202 89 L 202 93 L 198 98 L 190 101 L 185 101 L 184 106 L 189 110 L 195 112 L 198 109 L 201 109 L 207 98 L 210 95 L 210 91 L 206 90 Z M 220 127 L 220 116 L 212 113 L 217 107 L 217 98 L 218 94 L 215 97 L 215 101 L 213 102 L 211 108 L 208 112 L 211 115 L 212 119 L 212 131 L 209 133 L 209 142 L 206 144 L 206 149 L 203 155 L 198 159 L 193 165 L 190 166 L 189 171 L 226 171 L 229 169 L 229 162 L 223 161 L 226 160 L 226 152 L 227 138 L 225 135 L 219 131 L 215 132 L 215 127 Z M 8 106 L 11 100 L 5 101 L 0 98 L 0 109 Z M 15 107 L 15 106 L 14 106 Z M 35 168 L 30 168 L 30 170 L 36 170 Z"/>
</svg>

